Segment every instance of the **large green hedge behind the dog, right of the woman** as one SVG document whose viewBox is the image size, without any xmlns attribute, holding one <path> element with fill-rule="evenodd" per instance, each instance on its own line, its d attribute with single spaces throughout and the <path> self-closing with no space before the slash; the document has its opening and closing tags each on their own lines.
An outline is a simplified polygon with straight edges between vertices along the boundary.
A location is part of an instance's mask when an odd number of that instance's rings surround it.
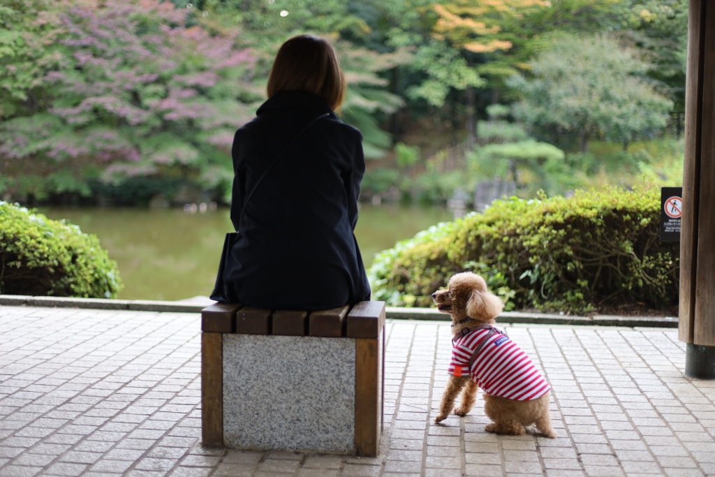
<svg viewBox="0 0 715 477">
<path fill-rule="evenodd" d="M 678 299 L 677 243 L 659 242 L 656 188 L 611 187 L 573 197 L 496 201 L 380 252 L 373 299 L 431 306 L 451 275 L 471 270 L 507 310 L 590 312 L 601 305 L 661 308 Z"/>
</svg>

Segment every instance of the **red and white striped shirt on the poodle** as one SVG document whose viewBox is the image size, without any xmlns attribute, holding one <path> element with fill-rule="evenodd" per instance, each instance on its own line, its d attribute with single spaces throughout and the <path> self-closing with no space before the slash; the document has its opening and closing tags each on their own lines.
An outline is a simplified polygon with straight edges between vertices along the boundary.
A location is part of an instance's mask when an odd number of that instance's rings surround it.
<svg viewBox="0 0 715 477">
<path fill-rule="evenodd" d="M 469 360 L 490 330 L 496 333 L 485 341 L 470 370 Z M 448 373 L 470 373 L 485 393 L 515 400 L 534 400 L 551 389 L 528 355 L 494 327 L 473 330 L 453 340 Z"/>
</svg>

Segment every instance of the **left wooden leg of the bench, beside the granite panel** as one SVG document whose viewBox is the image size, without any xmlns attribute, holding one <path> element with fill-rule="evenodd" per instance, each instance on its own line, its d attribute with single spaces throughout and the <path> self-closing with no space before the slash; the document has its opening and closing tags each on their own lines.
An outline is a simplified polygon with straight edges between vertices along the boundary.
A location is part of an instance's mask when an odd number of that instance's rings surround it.
<svg viewBox="0 0 715 477">
<path fill-rule="evenodd" d="M 223 446 L 222 333 L 201 333 L 201 429 L 204 446 Z"/>
</svg>

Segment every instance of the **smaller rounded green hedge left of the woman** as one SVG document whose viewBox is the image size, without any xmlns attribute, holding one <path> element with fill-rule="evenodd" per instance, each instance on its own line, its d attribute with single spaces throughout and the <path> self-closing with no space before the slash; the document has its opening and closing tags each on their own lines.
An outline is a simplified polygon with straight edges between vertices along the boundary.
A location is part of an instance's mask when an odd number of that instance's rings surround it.
<svg viewBox="0 0 715 477">
<path fill-rule="evenodd" d="M 6 295 L 114 298 L 117 263 L 94 235 L 0 202 L 0 292 Z"/>
</svg>

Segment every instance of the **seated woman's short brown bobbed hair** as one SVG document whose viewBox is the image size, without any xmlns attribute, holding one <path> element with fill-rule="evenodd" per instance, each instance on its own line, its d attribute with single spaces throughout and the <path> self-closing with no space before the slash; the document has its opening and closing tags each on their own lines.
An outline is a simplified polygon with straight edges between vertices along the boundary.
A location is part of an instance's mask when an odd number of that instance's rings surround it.
<svg viewBox="0 0 715 477">
<path fill-rule="evenodd" d="M 332 45 L 315 35 L 298 35 L 280 46 L 268 75 L 268 97 L 282 91 L 307 91 L 333 111 L 345 101 L 345 74 Z"/>
</svg>

